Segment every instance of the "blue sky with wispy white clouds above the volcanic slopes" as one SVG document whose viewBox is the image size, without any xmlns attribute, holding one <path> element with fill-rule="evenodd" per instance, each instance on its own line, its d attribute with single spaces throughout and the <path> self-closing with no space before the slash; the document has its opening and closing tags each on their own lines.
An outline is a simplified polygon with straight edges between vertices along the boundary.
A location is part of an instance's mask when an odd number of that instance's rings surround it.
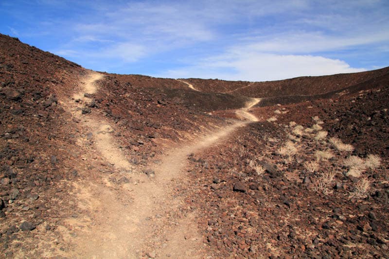
<svg viewBox="0 0 389 259">
<path fill-rule="evenodd" d="M 388 0 L 1 0 L 0 33 L 88 69 L 266 81 L 389 66 Z"/>
</svg>

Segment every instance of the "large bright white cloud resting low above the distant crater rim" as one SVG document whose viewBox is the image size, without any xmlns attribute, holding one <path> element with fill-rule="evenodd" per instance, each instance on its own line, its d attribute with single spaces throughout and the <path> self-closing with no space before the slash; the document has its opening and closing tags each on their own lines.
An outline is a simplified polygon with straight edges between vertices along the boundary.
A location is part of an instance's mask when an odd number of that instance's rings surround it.
<svg viewBox="0 0 389 259">
<path fill-rule="evenodd" d="M 159 77 L 219 78 L 226 80 L 268 81 L 307 75 L 360 72 L 346 62 L 312 55 L 278 55 L 248 52 L 212 57 L 182 69 L 169 70 Z"/>
</svg>

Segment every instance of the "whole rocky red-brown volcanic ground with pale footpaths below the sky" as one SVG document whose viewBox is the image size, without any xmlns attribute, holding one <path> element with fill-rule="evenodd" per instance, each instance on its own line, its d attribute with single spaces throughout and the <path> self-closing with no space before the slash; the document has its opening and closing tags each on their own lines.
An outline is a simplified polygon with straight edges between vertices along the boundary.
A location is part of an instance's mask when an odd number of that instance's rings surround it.
<svg viewBox="0 0 389 259">
<path fill-rule="evenodd" d="M 388 72 L 191 89 L 0 35 L 1 257 L 385 258 Z"/>
</svg>

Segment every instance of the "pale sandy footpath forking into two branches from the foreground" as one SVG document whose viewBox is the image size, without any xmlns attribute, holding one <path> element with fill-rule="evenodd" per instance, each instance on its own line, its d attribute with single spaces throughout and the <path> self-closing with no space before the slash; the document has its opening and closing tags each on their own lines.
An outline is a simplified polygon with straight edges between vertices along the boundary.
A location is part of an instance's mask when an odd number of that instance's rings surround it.
<svg viewBox="0 0 389 259">
<path fill-rule="evenodd" d="M 92 133 L 94 144 L 88 153 L 93 152 L 90 155 L 95 156 L 97 152 L 115 170 L 112 174 L 104 174 L 96 169 L 96 173 L 86 175 L 85 180 L 74 183 L 73 194 L 77 197 L 77 207 L 82 213 L 67 219 L 66 225 L 60 229 L 65 242 L 70 246 L 70 252 L 64 253 L 64 256 L 204 257 L 203 240 L 197 232 L 195 214 L 182 213 L 180 208 L 185 204 L 174 193 L 174 188 L 177 183 L 185 181 L 184 169 L 189 154 L 217 145 L 218 141 L 230 136 L 236 128 L 258 121 L 248 111 L 260 99 L 253 99 L 245 108 L 236 111 L 244 121 L 231 122 L 160 157 L 159 165 L 149 168 L 155 173 L 150 177 L 139 173 L 140 170 L 128 162 L 115 141 L 108 121 L 93 113 L 82 113 L 84 105 L 90 102 L 84 93 L 96 92 L 98 80 L 104 80 L 104 76 L 90 72 L 72 100 L 64 101 L 64 106 L 74 119 L 81 122 L 80 131 Z M 113 184 L 110 177 L 122 177 L 124 180 Z"/>
</svg>

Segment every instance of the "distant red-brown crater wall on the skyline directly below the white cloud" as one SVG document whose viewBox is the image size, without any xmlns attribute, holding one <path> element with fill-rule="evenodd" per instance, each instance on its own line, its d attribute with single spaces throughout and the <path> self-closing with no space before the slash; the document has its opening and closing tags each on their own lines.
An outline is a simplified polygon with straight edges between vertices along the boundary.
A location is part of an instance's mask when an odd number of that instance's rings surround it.
<svg viewBox="0 0 389 259">
<path fill-rule="evenodd" d="M 388 84 L 389 68 L 360 73 L 336 74 L 328 76 L 303 76 L 292 79 L 266 82 L 224 81 L 215 79 L 186 79 L 194 87 L 204 92 L 227 92 L 255 98 L 282 96 L 315 96 L 335 92 L 353 86 L 362 89 L 379 84 Z M 379 81 L 379 82 L 377 82 Z M 381 84 L 384 81 L 385 84 Z M 362 86 L 363 85 L 363 86 Z"/>
</svg>

